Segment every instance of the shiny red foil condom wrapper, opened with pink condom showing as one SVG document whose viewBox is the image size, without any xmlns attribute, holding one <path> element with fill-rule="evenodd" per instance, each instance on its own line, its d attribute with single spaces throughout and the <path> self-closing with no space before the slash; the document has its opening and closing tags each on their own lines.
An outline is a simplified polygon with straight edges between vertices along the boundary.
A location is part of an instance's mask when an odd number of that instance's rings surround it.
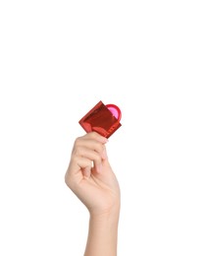
<svg viewBox="0 0 207 256">
<path fill-rule="evenodd" d="M 121 110 L 115 104 L 104 104 L 101 100 L 90 109 L 78 123 L 85 132 L 95 131 L 100 135 L 109 138 L 122 124 Z"/>
</svg>

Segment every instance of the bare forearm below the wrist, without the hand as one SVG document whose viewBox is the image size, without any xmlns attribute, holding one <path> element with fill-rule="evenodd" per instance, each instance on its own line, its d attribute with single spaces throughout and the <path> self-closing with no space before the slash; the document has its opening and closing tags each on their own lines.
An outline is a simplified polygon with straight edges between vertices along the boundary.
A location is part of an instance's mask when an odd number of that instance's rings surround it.
<svg viewBox="0 0 207 256">
<path fill-rule="evenodd" d="M 116 256 L 119 208 L 101 216 L 90 216 L 84 256 Z"/>
</svg>

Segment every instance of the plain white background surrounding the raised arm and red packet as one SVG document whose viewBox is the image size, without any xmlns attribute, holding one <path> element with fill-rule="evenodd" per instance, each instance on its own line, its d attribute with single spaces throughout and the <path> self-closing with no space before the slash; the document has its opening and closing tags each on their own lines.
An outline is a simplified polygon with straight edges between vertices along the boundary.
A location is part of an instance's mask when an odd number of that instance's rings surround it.
<svg viewBox="0 0 207 256">
<path fill-rule="evenodd" d="M 205 2 L 0 2 L 0 255 L 83 254 L 64 175 L 99 100 L 123 113 L 118 255 L 207 255 Z"/>
</svg>

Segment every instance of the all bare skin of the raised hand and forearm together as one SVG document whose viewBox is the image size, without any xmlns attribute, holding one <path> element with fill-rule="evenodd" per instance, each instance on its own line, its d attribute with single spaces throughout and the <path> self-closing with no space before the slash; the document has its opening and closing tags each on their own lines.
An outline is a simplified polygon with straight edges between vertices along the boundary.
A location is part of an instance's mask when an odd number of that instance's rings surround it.
<svg viewBox="0 0 207 256">
<path fill-rule="evenodd" d="M 120 187 L 106 153 L 107 139 L 96 132 L 74 143 L 66 184 L 89 211 L 84 256 L 116 256 Z"/>
</svg>

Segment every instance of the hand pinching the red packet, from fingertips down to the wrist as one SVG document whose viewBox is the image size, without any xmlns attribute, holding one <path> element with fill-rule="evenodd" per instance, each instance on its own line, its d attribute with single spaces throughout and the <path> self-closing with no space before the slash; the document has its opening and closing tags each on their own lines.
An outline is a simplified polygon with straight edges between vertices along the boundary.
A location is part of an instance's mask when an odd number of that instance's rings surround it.
<svg viewBox="0 0 207 256">
<path fill-rule="evenodd" d="M 75 141 L 66 184 L 91 216 L 119 212 L 120 187 L 106 154 L 107 139 L 96 132 Z"/>
</svg>

